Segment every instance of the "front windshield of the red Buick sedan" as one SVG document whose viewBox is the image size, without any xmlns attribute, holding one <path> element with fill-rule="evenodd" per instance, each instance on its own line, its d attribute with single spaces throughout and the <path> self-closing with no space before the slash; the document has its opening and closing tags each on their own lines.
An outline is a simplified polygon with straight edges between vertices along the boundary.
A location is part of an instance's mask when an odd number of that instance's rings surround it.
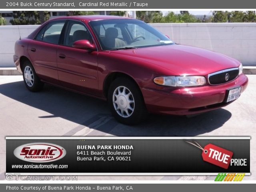
<svg viewBox="0 0 256 192">
<path fill-rule="evenodd" d="M 119 50 L 174 44 L 150 25 L 134 19 L 90 21 L 102 50 Z"/>
</svg>

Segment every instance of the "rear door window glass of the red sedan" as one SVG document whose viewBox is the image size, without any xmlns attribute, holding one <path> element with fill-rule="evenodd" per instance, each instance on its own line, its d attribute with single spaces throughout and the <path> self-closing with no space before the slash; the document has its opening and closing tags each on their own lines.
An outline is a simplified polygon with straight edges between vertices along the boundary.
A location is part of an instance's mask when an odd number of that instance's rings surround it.
<svg viewBox="0 0 256 192">
<path fill-rule="evenodd" d="M 37 35 L 36 40 L 58 44 L 65 21 L 49 23 Z"/>
</svg>

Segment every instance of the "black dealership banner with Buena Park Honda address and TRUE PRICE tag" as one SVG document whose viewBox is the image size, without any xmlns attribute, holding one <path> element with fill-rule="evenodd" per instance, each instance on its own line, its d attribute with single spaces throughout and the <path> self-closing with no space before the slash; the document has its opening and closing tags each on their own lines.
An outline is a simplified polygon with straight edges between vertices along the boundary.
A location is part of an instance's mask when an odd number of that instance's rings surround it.
<svg viewBox="0 0 256 192">
<path fill-rule="evenodd" d="M 6 174 L 250 175 L 250 137 L 6 137 Z"/>
</svg>

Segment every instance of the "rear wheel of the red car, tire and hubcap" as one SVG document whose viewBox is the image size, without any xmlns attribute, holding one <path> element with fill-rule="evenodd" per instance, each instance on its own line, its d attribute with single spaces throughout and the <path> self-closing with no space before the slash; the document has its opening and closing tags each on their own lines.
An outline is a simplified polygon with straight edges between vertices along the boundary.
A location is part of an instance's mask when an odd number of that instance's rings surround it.
<svg viewBox="0 0 256 192">
<path fill-rule="evenodd" d="M 28 60 L 23 64 L 22 75 L 25 86 L 28 90 L 31 92 L 38 92 L 42 90 L 44 83 L 41 82 L 40 78 L 37 76 L 34 70 L 34 67 Z"/>
</svg>

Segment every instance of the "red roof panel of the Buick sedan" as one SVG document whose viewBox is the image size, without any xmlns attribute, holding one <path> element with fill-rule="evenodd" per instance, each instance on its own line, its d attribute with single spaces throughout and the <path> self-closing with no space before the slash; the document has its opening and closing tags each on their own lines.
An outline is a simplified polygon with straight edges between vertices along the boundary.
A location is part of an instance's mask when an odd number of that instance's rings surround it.
<svg viewBox="0 0 256 192">
<path fill-rule="evenodd" d="M 52 20 L 60 20 L 60 19 L 84 20 L 89 22 L 94 20 L 132 19 L 132 18 L 122 17 L 122 16 L 112 16 L 112 15 L 79 15 L 79 16 L 62 16 L 62 17 L 54 18 Z"/>
</svg>

